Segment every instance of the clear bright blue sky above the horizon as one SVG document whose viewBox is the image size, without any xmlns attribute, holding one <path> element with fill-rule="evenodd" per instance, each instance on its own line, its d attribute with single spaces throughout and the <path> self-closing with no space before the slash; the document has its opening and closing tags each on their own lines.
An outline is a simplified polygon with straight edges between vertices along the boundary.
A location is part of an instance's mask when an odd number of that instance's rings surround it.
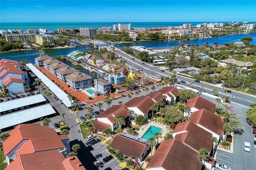
<svg viewBox="0 0 256 170">
<path fill-rule="evenodd" d="M 0 0 L 0 22 L 256 21 L 246 0 Z"/>
</svg>

